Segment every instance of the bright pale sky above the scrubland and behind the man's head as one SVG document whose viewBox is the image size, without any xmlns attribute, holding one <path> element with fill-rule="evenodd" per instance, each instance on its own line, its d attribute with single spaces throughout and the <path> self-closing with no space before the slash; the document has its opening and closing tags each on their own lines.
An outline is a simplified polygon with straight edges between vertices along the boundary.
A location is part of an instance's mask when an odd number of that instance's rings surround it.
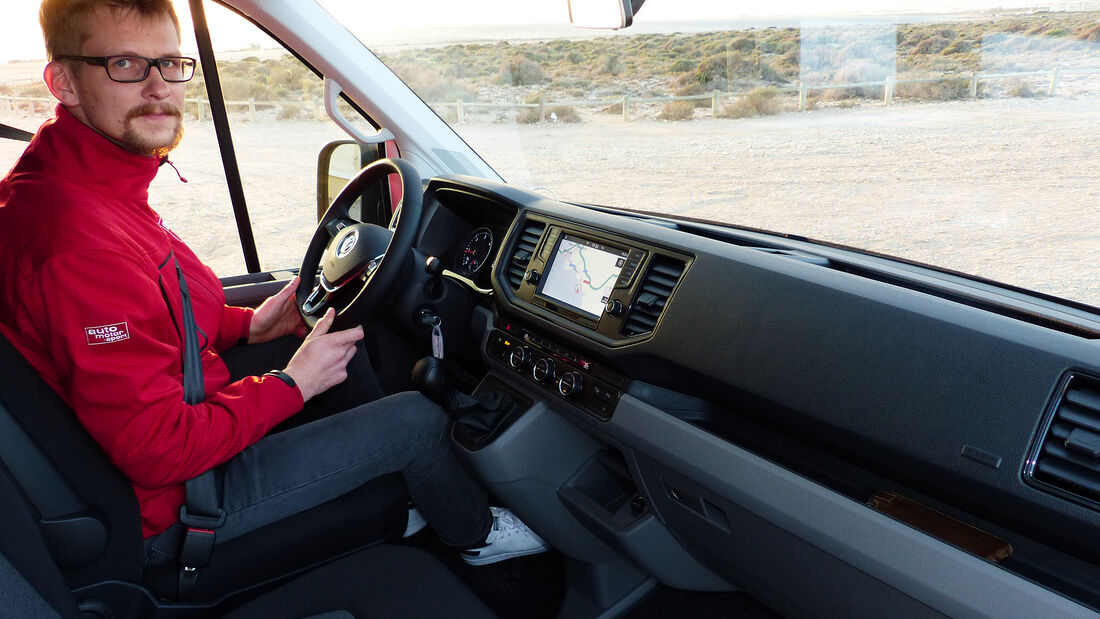
<svg viewBox="0 0 1100 619">
<path fill-rule="evenodd" d="M 190 29 L 186 0 L 174 0 L 184 32 Z M 565 23 L 566 0 L 320 0 L 350 30 L 369 34 L 385 29 L 432 27 L 476 23 Z M 38 29 L 40 0 L 3 0 L 0 15 L 0 63 L 45 57 Z M 251 42 L 241 20 L 207 2 L 211 32 L 221 33 L 215 44 L 243 48 Z M 952 13 L 998 7 L 1043 5 L 1071 10 L 1100 10 L 1100 0 L 647 0 L 636 23 L 692 21 L 707 16 L 817 15 L 823 10 L 848 14 L 882 14 L 920 10 Z M 476 8 L 476 10 L 474 10 Z M 228 34 L 228 35 L 227 35 Z M 184 36 L 184 52 L 194 51 L 194 37 Z"/>
</svg>

